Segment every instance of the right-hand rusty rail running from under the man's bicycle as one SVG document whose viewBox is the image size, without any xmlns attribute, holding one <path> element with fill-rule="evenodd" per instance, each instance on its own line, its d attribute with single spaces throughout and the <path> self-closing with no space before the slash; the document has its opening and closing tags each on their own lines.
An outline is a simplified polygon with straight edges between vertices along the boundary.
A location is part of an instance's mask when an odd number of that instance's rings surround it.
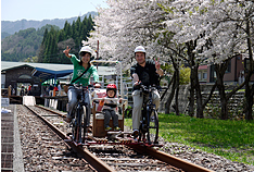
<svg viewBox="0 0 254 172">
<path fill-rule="evenodd" d="M 135 151 L 137 152 L 147 153 L 149 156 L 152 156 L 155 159 L 158 159 L 178 169 L 182 169 L 183 171 L 187 171 L 187 172 L 214 172 L 213 170 L 185 161 L 182 159 L 176 158 L 163 151 L 156 150 L 152 147 L 147 147 L 142 145 L 128 145 L 128 147 L 135 149 Z"/>
</svg>

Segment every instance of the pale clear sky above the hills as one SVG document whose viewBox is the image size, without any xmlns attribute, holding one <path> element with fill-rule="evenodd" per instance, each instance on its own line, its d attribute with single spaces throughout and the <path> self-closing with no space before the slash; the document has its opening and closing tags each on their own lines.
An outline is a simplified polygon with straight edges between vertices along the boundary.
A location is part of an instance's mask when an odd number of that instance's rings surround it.
<svg viewBox="0 0 254 172">
<path fill-rule="evenodd" d="M 106 0 L 1 0 L 1 21 L 42 21 L 81 16 Z"/>
</svg>

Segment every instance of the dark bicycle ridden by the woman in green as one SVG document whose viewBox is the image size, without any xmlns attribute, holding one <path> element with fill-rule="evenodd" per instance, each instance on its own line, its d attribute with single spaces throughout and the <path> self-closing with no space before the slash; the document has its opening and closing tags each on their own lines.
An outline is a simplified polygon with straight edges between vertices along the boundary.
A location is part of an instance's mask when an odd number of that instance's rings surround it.
<svg viewBox="0 0 254 172">
<path fill-rule="evenodd" d="M 89 124 L 88 103 L 85 102 L 86 93 L 89 91 L 88 86 L 71 84 L 75 89 L 79 90 L 77 97 L 78 101 L 73 109 L 74 119 L 72 119 L 69 126 L 72 127 L 72 139 L 78 145 L 85 145 L 86 136 L 88 133 L 87 125 Z"/>
</svg>

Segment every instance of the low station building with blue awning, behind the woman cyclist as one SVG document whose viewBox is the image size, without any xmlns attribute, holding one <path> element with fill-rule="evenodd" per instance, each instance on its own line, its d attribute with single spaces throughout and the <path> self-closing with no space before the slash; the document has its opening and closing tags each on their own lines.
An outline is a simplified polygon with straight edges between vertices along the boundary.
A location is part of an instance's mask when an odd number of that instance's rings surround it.
<svg viewBox="0 0 254 172">
<path fill-rule="evenodd" d="M 73 64 L 54 63 L 28 63 L 1 61 L 1 88 L 7 89 L 10 85 L 16 96 L 21 95 L 22 87 L 31 86 L 31 95 L 40 96 L 43 93 L 41 84 L 48 79 L 60 79 L 62 84 L 72 78 Z M 114 66 L 98 66 L 101 81 L 116 77 Z M 52 79 L 53 78 L 53 79 Z M 52 85 L 56 84 L 51 82 Z"/>
</svg>

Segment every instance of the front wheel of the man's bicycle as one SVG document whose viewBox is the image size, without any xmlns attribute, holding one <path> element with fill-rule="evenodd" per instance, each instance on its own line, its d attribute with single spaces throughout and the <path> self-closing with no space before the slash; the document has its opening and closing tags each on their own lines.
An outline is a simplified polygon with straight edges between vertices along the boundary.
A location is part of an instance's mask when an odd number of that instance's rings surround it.
<svg viewBox="0 0 254 172">
<path fill-rule="evenodd" d="M 157 144 L 157 137 L 158 137 L 157 111 L 152 109 L 150 116 L 148 118 L 148 142 L 149 144 L 150 145 Z"/>
</svg>

